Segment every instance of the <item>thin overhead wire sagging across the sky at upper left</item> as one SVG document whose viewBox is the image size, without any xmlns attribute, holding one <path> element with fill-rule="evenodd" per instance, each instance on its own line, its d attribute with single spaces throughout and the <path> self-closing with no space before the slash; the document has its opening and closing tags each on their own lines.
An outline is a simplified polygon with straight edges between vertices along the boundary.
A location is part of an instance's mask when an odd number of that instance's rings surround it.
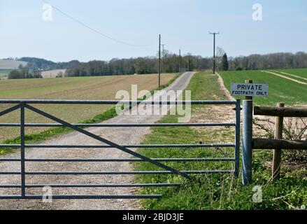
<svg viewBox="0 0 307 224">
<path fill-rule="evenodd" d="M 81 22 L 80 20 L 77 20 L 76 18 L 73 18 L 71 15 L 65 13 L 64 11 L 60 10 L 59 8 L 57 8 L 56 6 L 53 6 L 51 3 L 49 3 L 48 1 L 45 1 L 45 0 L 41 0 L 43 1 L 44 3 L 48 3 L 50 6 L 52 6 L 52 8 L 55 8 L 55 10 L 57 10 L 59 13 L 62 13 L 63 15 L 65 15 L 67 18 L 73 20 L 74 22 L 77 22 L 78 24 L 82 25 L 83 27 L 87 28 L 87 29 L 90 29 L 92 31 L 94 31 L 95 33 L 105 37 L 105 38 L 108 38 L 110 39 L 111 41 L 115 41 L 117 43 L 121 43 L 121 44 L 124 44 L 124 45 L 129 45 L 129 46 L 132 46 L 132 47 L 139 47 L 139 48 L 143 48 L 143 47 L 149 47 L 149 46 L 152 46 L 154 45 L 155 43 L 152 43 L 150 45 L 135 45 L 135 44 L 131 44 L 131 43 L 127 43 L 127 42 L 124 42 L 124 41 L 120 41 L 120 40 L 117 40 L 116 38 L 113 38 L 111 36 L 108 36 L 106 34 L 103 34 L 101 33 L 101 31 L 97 30 L 97 29 L 94 29 L 88 25 L 86 25 L 84 22 Z"/>
</svg>

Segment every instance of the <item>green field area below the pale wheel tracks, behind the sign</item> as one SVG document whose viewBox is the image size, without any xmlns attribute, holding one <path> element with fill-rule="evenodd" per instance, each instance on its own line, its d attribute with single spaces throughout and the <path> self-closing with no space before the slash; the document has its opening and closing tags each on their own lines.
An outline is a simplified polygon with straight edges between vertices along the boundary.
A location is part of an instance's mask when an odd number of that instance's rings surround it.
<svg viewBox="0 0 307 224">
<path fill-rule="evenodd" d="M 244 83 L 248 79 L 253 80 L 254 83 L 268 83 L 269 97 L 255 97 L 254 102 L 257 105 L 275 106 L 278 102 L 284 102 L 286 106 L 307 104 L 306 85 L 262 71 L 221 71 L 220 75 L 229 91 L 231 83 Z"/>
</svg>

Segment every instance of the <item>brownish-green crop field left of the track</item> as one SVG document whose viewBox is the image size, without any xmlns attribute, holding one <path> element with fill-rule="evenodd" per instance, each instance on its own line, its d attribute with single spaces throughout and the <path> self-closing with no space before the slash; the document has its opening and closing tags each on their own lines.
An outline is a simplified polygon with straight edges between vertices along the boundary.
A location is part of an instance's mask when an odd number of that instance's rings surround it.
<svg viewBox="0 0 307 224">
<path fill-rule="evenodd" d="M 162 74 L 162 85 L 166 85 L 176 74 Z M 131 92 L 131 85 L 138 85 L 138 91 L 155 90 L 158 87 L 156 74 L 144 76 L 97 76 L 82 78 L 1 80 L 0 99 L 115 99 L 118 90 Z M 0 111 L 11 105 L 0 104 Z M 52 115 L 66 121 L 78 123 L 93 118 L 110 109 L 110 106 L 78 106 L 78 105 L 37 105 Z M 20 123 L 19 111 L 0 117 L 0 123 Z M 26 123 L 52 123 L 47 118 L 26 110 Z M 26 134 L 34 134 L 46 130 L 36 127 L 26 130 Z M 19 136 L 15 127 L 0 128 L 0 142 Z"/>
</svg>

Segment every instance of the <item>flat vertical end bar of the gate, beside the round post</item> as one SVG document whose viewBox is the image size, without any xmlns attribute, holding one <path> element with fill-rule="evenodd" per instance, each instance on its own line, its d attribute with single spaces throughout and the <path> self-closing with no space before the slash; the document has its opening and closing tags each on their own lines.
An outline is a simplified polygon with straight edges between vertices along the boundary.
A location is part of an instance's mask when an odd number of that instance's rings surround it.
<svg viewBox="0 0 307 224">
<path fill-rule="evenodd" d="M 235 164 L 234 176 L 238 179 L 240 169 L 240 122 L 241 122 L 241 100 L 236 100 L 236 149 L 235 149 Z"/>
</svg>

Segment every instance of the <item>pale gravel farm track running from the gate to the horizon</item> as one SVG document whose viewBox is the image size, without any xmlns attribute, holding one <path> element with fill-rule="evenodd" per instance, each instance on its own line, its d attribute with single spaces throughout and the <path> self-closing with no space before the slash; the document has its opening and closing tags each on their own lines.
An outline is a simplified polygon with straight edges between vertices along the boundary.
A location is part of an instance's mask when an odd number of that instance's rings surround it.
<svg viewBox="0 0 307 224">
<path fill-rule="evenodd" d="M 180 76 L 173 84 L 165 90 L 184 90 L 190 83 L 194 73 L 188 72 Z M 153 96 L 155 97 L 155 96 Z M 135 110 L 136 107 L 132 110 Z M 158 109 L 159 110 L 159 109 Z M 162 116 L 118 116 L 108 120 L 106 123 L 155 123 Z M 150 132 L 148 127 L 129 128 L 89 128 L 88 131 L 99 135 L 117 144 L 140 144 L 145 134 Z M 78 132 L 65 134 L 57 139 L 52 139 L 45 144 L 101 144 L 100 142 L 85 137 Z M 16 151 L 7 158 L 20 158 L 20 151 Z M 63 148 L 29 148 L 26 158 L 131 158 L 127 153 L 118 149 L 63 149 Z M 128 162 L 56 162 L 56 163 L 27 163 L 27 172 L 38 171 L 131 171 Z M 1 171 L 18 171 L 20 163 L 1 162 Z M 124 175 L 98 175 L 98 176 L 27 176 L 27 184 L 110 184 L 110 183 L 134 183 L 134 176 Z M 20 176 L 0 176 L 0 185 L 20 184 Z M 28 195 L 42 195 L 43 189 L 27 189 Z M 138 188 L 99 188 L 99 189 L 53 189 L 53 195 L 131 195 L 136 194 Z M 20 190 L 0 189 L 0 195 L 20 194 Z M 137 200 L 54 200 L 52 203 L 43 203 L 41 200 L 3 200 L 0 209 L 139 209 Z"/>
</svg>

